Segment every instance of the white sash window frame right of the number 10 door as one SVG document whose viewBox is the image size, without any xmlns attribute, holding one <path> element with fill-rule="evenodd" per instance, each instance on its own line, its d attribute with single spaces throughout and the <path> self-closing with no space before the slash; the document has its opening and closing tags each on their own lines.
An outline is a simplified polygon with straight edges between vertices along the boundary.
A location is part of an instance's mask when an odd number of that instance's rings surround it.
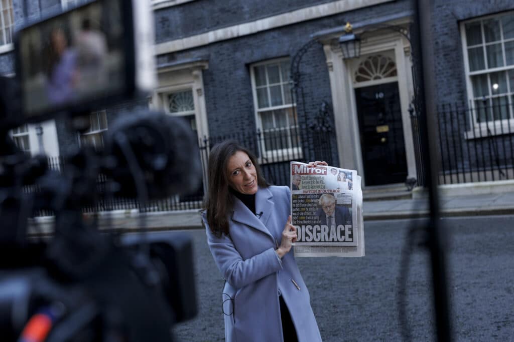
<svg viewBox="0 0 514 342">
<path fill-rule="evenodd" d="M 479 45 L 471 45 L 468 46 L 467 44 L 467 37 L 466 37 L 466 24 L 474 23 L 474 22 L 481 22 L 487 21 L 491 18 L 501 18 L 504 15 L 513 14 L 514 11 L 507 11 L 502 13 L 496 13 L 492 15 L 482 16 L 478 18 L 473 18 L 464 22 L 460 23 L 460 31 L 461 31 L 461 40 L 463 42 L 462 44 L 462 51 L 463 51 L 463 58 L 464 58 L 464 69 L 466 72 L 466 88 L 467 88 L 467 97 L 468 97 L 468 103 L 470 104 L 470 110 L 469 110 L 469 120 L 471 123 L 473 123 L 474 130 L 468 130 L 465 132 L 465 138 L 466 139 L 473 139 L 473 138 L 480 138 L 484 136 L 490 136 L 491 134 L 494 135 L 500 135 L 500 134 L 506 134 L 508 132 L 514 132 L 514 100 L 512 98 L 514 97 L 514 84 L 509 85 L 507 82 L 507 92 L 502 93 L 501 95 L 489 95 L 486 97 L 488 105 L 486 106 L 488 109 L 491 107 L 490 99 L 495 97 L 503 97 L 507 96 L 508 101 L 508 110 L 509 110 L 509 118 L 507 119 L 498 119 L 498 120 L 486 120 L 485 122 L 478 123 L 476 120 L 476 114 L 478 113 L 478 109 L 475 108 L 475 101 L 480 100 L 481 97 L 475 97 L 473 94 L 473 84 L 471 82 L 471 77 L 476 75 L 489 75 L 495 72 L 501 72 L 505 71 L 508 72 L 509 70 L 514 70 L 514 65 L 506 65 L 505 60 L 505 42 L 513 42 L 514 38 L 508 38 L 505 39 L 503 36 L 503 27 L 500 25 L 500 33 L 501 33 L 501 40 L 491 43 L 491 42 L 485 42 L 484 37 L 484 31 L 483 31 L 483 24 L 481 25 L 481 33 L 482 33 L 482 43 Z M 492 44 L 498 44 L 500 42 L 502 44 L 502 52 L 503 52 L 503 67 L 495 67 L 495 68 L 487 68 L 487 54 L 484 51 L 484 63 L 485 68 L 482 70 L 476 70 L 476 71 L 470 71 L 469 66 L 469 56 L 468 56 L 468 48 L 472 47 L 480 47 L 482 46 L 484 49 L 487 45 Z M 490 78 L 488 77 L 488 88 L 490 88 Z M 469 129 L 469 128 L 468 128 Z"/>
</svg>

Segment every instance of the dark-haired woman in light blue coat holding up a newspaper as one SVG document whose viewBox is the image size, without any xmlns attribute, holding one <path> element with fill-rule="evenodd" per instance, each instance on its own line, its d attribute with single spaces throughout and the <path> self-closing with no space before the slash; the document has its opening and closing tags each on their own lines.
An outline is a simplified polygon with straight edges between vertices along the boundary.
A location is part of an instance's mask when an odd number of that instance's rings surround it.
<svg viewBox="0 0 514 342">
<path fill-rule="evenodd" d="M 310 165 L 326 165 L 324 162 Z M 268 186 L 255 157 L 235 142 L 209 156 L 203 220 L 214 261 L 225 278 L 226 341 L 321 341 L 291 243 L 288 187 Z"/>
</svg>

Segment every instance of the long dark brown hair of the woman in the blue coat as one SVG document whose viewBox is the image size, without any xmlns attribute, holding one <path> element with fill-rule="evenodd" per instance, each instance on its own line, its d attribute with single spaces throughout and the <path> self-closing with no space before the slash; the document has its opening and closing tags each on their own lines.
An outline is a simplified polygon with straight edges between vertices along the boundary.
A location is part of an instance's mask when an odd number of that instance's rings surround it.
<svg viewBox="0 0 514 342">
<path fill-rule="evenodd" d="M 207 223 L 212 233 L 221 236 L 229 233 L 229 214 L 234 208 L 234 195 L 229 191 L 227 165 L 236 152 L 245 152 L 255 166 L 257 184 L 261 188 L 269 185 L 262 176 L 257 158 L 234 140 L 226 140 L 215 145 L 209 155 L 209 187 L 204 201 L 207 210 Z"/>
</svg>

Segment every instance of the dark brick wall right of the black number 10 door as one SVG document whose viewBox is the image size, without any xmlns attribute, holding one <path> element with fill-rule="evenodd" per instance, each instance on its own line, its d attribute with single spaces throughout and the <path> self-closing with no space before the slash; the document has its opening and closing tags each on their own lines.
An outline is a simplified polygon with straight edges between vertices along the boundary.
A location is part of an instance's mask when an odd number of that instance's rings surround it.
<svg viewBox="0 0 514 342">
<path fill-rule="evenodd" d="M 494 137 L 484 134 L 482 137 L 465 139 L 464 133 L 470 124 L 469 112 L 454 110 L 466 107 L 468 102 L 460 22 L 507 10 L 514 10 L 512 1 L 436 0 L 434 2 L 432 18 L 434 20 L 435 94 L 436 103 L 441 109 L 438 115 L 442 142 L 441 162 L 446 170 L 457 171 L 469 167 L 503 168 L 512 165 L 513 135 L 509 131 L 505 130 L 504 134 Z M 450 111 L 453 115 L 450 115 Z M 502 132 L 500 130 L 495 132 L 491 128 L 489 133 L 493 135 Z"/>
</svg>

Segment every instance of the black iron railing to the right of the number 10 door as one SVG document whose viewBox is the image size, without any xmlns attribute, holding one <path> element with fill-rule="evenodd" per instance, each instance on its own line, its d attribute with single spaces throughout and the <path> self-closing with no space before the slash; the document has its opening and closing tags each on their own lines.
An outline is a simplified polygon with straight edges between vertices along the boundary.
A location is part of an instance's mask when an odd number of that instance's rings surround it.
<svg viewBox="0 0 514 342">
<path fill-rule="evenodd" d="M 514 108 L 512 104 L 437 107 L 439 184 L 460 184 L 514 179 Z M 423 163 L 417 148 L 419 120 L 411 112 L 414 150 L 418 166 Z M 419 175 L 418 175 L 419 177 Z"/>
</svg>

